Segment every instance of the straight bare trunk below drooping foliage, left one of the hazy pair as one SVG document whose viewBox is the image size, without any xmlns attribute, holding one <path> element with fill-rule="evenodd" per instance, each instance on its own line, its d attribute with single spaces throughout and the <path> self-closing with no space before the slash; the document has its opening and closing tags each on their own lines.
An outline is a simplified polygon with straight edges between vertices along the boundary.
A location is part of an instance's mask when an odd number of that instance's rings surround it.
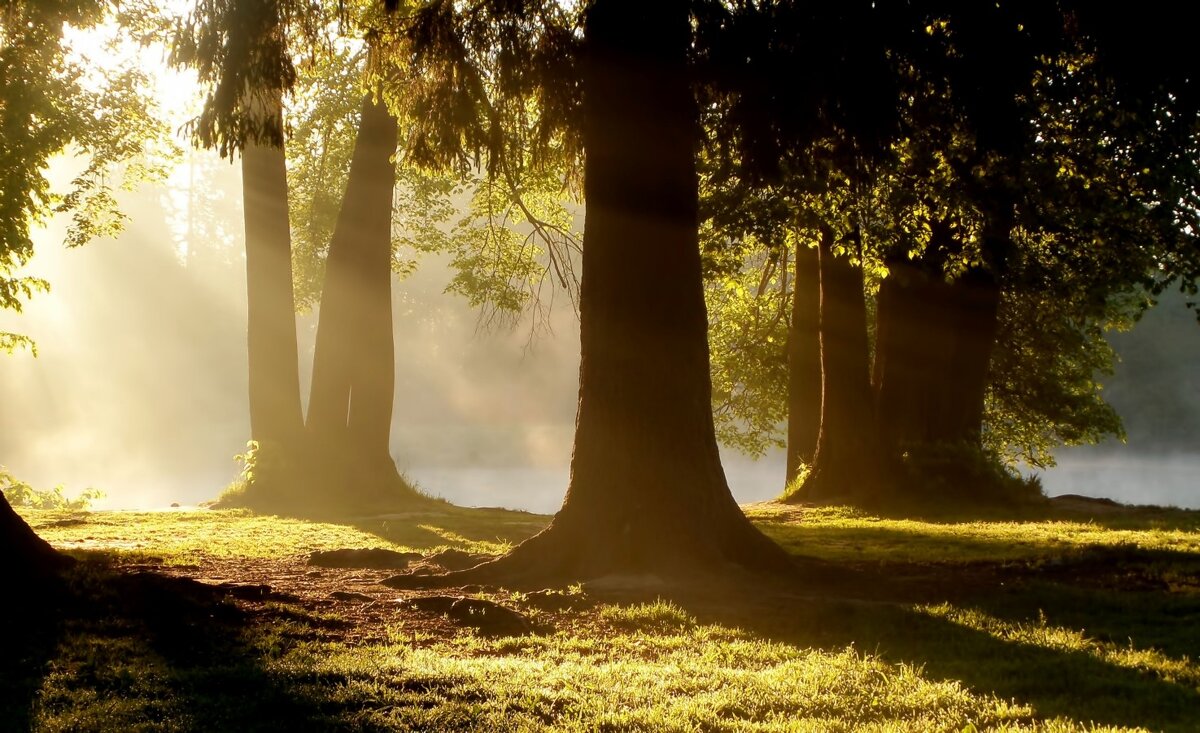
<svg viewBox="0 0 1200 733">
<path fill-rule="evenodd" d="M 281 125 L 281 106 L 266 112 Z M 246 305 L 250 356 L 250 434 L 288 455 L 301 435 L 300 373 L 292 234 L 282 148 L 247 144 L 241 156 L 246 224 Z"/>
</svg>

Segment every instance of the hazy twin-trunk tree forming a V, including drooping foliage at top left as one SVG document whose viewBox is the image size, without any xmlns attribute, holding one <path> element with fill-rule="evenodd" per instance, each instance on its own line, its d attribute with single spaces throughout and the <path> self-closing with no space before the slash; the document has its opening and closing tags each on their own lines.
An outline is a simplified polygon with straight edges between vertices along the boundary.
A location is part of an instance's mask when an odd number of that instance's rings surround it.
<svg viewBox="0 0 1200 733">
<path fill-rule="evenodd" d="M 416 494 L 389 455 L 396 120 L 374 89 L 362 103 L 340 211 L 328 232 L 308 413 L 300 414 L 289 232 L 294 206 L 289 206 L 281 116 L 282 96 L 298 82 L 289 35 L 312 47 L 312 65 L 324 62 L 325 71 L 353 66 L 344 54 L 325 48 L 320 17 L 320 8 L 304 4 L 210 2 L 178 35 L 173 59 L 198 68 L 211 88 L 194 122 L 196 142 L 222 154 L 241 151 L 251 437 L 258 443 L 252 455 L 264 465 L 256 465 L 247 486 L 254 495 L 239 500 L 347 510 L 408 501 Z M 356 25 L 367 28 L 368 46 L 377 35 L 371 17 L 368 11 L 355 18 Z M 368 67 L 359 73 L 370 82 L 377 72 Z M 230 94 L 238 88 L 244 90 L 241 98 Z M 331 142 L 331 134 L 323 136 L 326 150 Z M 313 192 L 306 193 L 301 200 L 311 204 Z M 314 236 L 326 234 L 317 220 L 301 232 L 308 252 Z"/>
</svg>

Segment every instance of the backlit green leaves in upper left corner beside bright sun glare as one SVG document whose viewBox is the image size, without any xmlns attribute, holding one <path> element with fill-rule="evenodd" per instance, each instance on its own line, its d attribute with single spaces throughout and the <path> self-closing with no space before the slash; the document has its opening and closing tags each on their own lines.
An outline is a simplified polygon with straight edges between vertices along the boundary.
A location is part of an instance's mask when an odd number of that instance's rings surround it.
<svg viewBox="0 0 1200 733">
<path fill-rule="evenodd" d="M 66 244 L 113 236 L 125 224 L 115 190 L 166 174 L 174 155 L 149 92 L 149 78 L 130 52 L 130 37 L 152 34 L 152 5 L 121 12 L 101 0 L 7 4 L 0 12 L 0 308 L 20 311 L 47 289 L 42 280 L 14 277 L 34 254 L 32 226 L 71 217 Z M 121 26 L 103 36 L 108 20 Z M 84 40 L 98 43 L 91 58 Z M 53 190 L 52 158 L 82 161 L 65 190 Z M 31 347 L 0 334 L 0 349 Z"/>
</svg>

